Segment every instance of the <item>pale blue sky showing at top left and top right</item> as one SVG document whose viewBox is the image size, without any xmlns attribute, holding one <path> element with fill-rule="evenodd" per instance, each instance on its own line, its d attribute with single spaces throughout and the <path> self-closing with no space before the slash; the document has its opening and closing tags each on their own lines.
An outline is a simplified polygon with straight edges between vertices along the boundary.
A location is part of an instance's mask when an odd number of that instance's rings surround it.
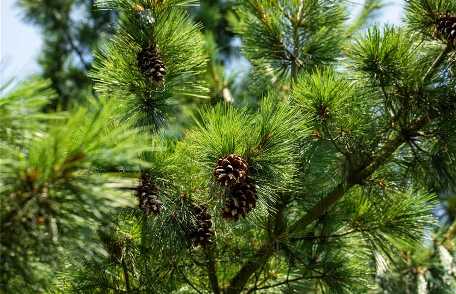
<svg viewBox="0 0 456 294">
<path fill-rule="evenodd" d="M 360 0 L 354 0 L 360 2 Z M 381 22 L 399 24 L 403 1 L 390 0 L 391 5 L 383 10 Z M 21 10 L 15 6 L 16 0 L 0 0 L 0 56 L 8 66 L 1 73 L 1 82 L 16 75 L 23 78 L 39 72 L 36 62 L 43 44 L 37 27 L 21 20 Z"/>
</svg>

